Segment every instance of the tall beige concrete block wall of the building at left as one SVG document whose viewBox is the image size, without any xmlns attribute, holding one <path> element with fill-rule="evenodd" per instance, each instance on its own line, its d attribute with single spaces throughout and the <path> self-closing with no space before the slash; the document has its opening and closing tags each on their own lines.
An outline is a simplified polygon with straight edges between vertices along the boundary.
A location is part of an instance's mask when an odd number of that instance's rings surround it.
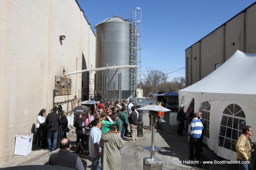
<svg viewBox="0 0 256 170">
<path fill-rule="evenodd" d="M 75 0 L 2 0 L 0 9 L 0 161 L 7 161 L 15 136 L 31 133 L 39 111 L 52 108 L 54 78 L 63 67 L 65 73 L 81 70 L 82 51 L 87 67 L 95 66 L 95 35 Z M 71 95 L 55 102 L 81 96 L 81 75 L 67 78 Z"/>
</svg>

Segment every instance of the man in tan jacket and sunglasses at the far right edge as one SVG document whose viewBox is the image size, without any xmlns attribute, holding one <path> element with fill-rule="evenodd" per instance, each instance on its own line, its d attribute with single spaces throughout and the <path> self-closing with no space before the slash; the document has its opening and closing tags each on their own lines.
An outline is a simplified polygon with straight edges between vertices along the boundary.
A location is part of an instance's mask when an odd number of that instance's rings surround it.
<svg viewBox="0 0 256 170">
<path fill-rule="evenodd" d="M 240 161 L 240 163 L 238 163 L 238 168 L 240 170 L 248 170 L 248 165 L 250 163 L 249 151 L 252 150 L 252 139 L 249 136 L 252 136 L 252 133 L 252 127 L 246 125 L 242 128 L 242 134 L 237 138 L 236 151 L 237 161 Z"/>
</svg>

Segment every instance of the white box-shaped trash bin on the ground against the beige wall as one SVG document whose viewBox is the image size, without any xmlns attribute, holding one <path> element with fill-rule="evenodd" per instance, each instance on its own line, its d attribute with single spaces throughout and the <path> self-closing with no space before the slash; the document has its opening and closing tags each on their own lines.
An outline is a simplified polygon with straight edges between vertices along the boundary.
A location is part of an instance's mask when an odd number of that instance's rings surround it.
<svg viewBox="0 0 256 170">
<path fill-rule="evenodd" d="M 16 135 L 14 155 L 27 155 L 31 152 L 33 134 L 22 133 Z"/>
</svg>

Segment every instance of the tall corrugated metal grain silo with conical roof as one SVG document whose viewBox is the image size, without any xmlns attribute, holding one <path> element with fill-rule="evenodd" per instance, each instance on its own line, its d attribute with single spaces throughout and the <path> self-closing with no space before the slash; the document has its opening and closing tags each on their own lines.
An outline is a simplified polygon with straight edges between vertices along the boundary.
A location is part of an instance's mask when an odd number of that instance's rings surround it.
<svg viewBox="0 0 256 170">
<path fill-rule="evenodd" d="M 109 18 L 96 26 L 96 68 L 136 65 L 136 27 L 121 18 Z M 108 70 L 108 83 L 116 70 Z M 104 73 L 104 78 L 103 77 Z M 119 69 L 108 86 L 108 98 L 119 98 L 118 82 L 121 73 L 121 96 L 128 98 L 136 82 L 136 69 Z M 107 71 L 96 72 L 95 89 L 102 96 L 106 90 Z M 103 85 L 104 84 L 104 85 Z M 98 95 L 98 96 L 99 96 Z M 105 95 L 105 99 L 107 96 Z"/>
</svg>

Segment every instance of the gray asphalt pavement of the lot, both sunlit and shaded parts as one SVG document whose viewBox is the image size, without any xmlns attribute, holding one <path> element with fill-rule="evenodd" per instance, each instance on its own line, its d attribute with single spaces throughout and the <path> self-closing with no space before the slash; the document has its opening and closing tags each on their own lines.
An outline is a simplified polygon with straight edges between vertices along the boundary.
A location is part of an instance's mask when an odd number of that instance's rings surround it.
<svg viewBox="0 0 256 170">
<path fill-rule="evenodd" d="M 131 135 L 125 136 L 125 146 L 122 148 L 121 157 L 121 169 L 143 169 L 143 158 L 150 157 L 150 152 L 144 149 L 146 146 L 151 146 L 151 131 L 148 130 L 149 118 L 148 113 L 143 113 L 143 131 L 142 137 L 138 137 L 137 142 L 128 142 L 131 139 Z M 188 128 L 184 129 L 184 134 L 188 132 Z M 71 150 L 75 151 L 76 134 L 69 136 L 71 140 Z M 209 165 L 209 164 L 188 164 L 183 161 L 189 157 L 188 151 L 188 136 L 177 136 L 177 126 L 170 126 L 169 113 L 165 114 L 163 119 L 163 131 L 155 130 L 155 144 L 154 146 L 162 148 L 161 151 L 155 153 L 155 157 L 165 161 L 162 164 L 163 170 L 236 170 L 236 165 Z M 1 162 L 1 167 L 10 167 L 17 165 L 44 165 L 48 163 L 50 152 L 44 150 L 32 151 L 26 156 L 14 155 L 8 162 Z M 91 157 L 88 155 L 79 155 L 81 159 L 87 162 L 87 169 L 90 169 Z M 206 145 L 203 145 L 202 160 L 201 161 L 222 161 L 221 157 L 218 157 L 213 151 L 211 151 Z M 167 163 L 167 162 L 170 163 Z M 174 162 L 176 161 L 176 162 Z M 181 162 L 179 162 L 181 161 Z M 173 163 L 172 163 L 173 162 Z"/>
</svg>

